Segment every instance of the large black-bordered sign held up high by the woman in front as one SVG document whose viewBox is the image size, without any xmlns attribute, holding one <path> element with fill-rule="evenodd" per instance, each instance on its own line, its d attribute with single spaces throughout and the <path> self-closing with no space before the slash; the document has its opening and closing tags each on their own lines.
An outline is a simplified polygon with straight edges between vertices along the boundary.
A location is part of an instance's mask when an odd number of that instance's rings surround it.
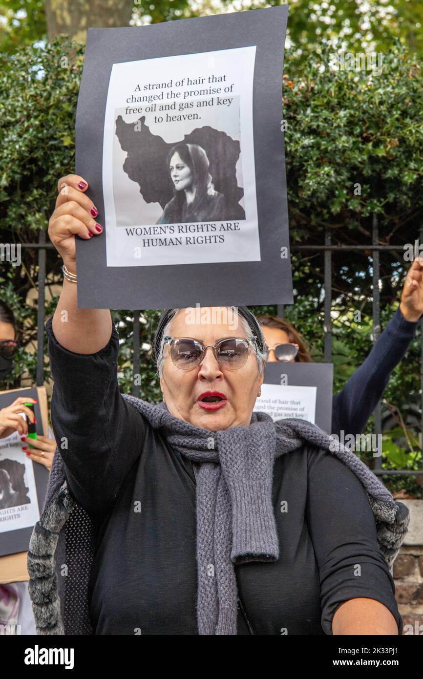
<svg viewBox="0 0 423 679">
<path fill-rule="evenodd" d="M 79 308 L 293 303 L 287 16 L 282 5 L 88 29 L 75 171 L 103 232 L 76 239 Z M 195 209 L 183 201 L 194 185 Z"/>
</svg>

